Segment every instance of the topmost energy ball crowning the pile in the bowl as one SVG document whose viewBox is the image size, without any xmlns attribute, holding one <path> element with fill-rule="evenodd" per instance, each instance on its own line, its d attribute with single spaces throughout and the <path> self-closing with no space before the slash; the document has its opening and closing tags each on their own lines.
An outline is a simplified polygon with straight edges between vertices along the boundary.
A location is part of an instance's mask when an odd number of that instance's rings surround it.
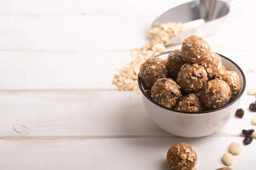
<svg viewBox="0 0 256 170">
<path fill-rule="evenodd" d="M 192 35 L 182 42 L 182 58 L 185 62 L 200 63 L 210 54 L 210 45 L 200 37 Z"/>
</svg>

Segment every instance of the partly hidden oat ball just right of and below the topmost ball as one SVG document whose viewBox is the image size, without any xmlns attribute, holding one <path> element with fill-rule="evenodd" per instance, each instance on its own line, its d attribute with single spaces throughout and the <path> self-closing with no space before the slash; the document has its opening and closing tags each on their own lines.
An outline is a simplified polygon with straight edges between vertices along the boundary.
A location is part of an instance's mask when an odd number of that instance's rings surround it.
<svg viewBox="0 0 256 170">
<path fill-rule="evenodd" d="M 208 80 L 214 78 L 215 75 L 218 75 L 222 66 L 220 55 L 215 52 L 210 52 L 209 55 L 202 57 L 200 64 L 205 66 Z"/>
</svg>

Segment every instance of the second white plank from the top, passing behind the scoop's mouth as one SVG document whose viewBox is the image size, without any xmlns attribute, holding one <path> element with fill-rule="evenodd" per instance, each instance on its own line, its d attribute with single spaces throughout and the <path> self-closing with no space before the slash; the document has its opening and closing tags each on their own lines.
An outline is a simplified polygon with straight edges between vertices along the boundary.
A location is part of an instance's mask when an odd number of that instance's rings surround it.
<svg viewBox="0 0 256 170">
<path fill-rule="evenodd" d="M 251 35 L 256 29 L 253 16 L 232 18 L 231 13 L 218 34 L 205 39 L 226 50 L 253 49 Z M 147 41 L 156 15 L 0 15 L 0 50 L 86 49 L 130 50 Z M 252 17 L 252 18 L 250 18 Z M 235 23 L 239 23 L 234 25 Z M 231 29 L 232 28 L 232 29 Z M 243 34 L 238 34 L 243 30 Z M 234 35 L 236 40 L 234 41 Z M 245 43 L 246 45 L 241 45 Z"/>
</svg>

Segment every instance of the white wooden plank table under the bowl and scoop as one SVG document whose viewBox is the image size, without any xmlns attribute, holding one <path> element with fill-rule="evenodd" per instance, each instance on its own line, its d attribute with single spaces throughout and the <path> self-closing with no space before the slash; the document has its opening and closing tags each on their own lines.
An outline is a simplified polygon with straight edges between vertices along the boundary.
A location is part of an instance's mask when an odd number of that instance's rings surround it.
<svg viewBox="0 0 256 170">
<path fill-rule="evenodd" d="M 198 170 L 223 167 L 242 129 L 256 128 L 244 93 L 243 119 L 233 117 L 204 138 L 158 128 L 135 92 L 111 84 L 115 68 L 146 42 L 151 22 L 174 0 L 8 0 L 0 2 L 0 170 L 167 170 L 166 152 L 192 145 Z M 246 88 L 256 86 L 256 2 L 232 7 L 211 49 L 237 62 Z M 180 45 L 172 47 L 179 48 Z M 111 65 L 116 63 L 117 65 Z M 235 156 L 233 170 L 255 169 L 256 140 Z"/>
</svg>

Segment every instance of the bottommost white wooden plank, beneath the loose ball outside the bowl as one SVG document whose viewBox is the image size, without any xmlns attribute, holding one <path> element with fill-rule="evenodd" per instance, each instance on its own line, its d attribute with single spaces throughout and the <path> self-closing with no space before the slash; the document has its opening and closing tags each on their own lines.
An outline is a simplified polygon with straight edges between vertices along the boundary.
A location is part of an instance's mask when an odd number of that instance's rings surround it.
<svg viewBox="0 0 256 170">
<path fill-rule="evenodd" d="M 230 138 L 122 138 L 122 139 L 8 139 L 0 140 L 0 169 L 5 170 L 168 170 L 169 147 L 185 142 L 193 146 L 196 168 L 215 170 L 224 167 L 221 158 L 228 146 L 242 137 Z M 232 169 L 256 166 L 256 142 L 243 146 Z"/>
</svg>

